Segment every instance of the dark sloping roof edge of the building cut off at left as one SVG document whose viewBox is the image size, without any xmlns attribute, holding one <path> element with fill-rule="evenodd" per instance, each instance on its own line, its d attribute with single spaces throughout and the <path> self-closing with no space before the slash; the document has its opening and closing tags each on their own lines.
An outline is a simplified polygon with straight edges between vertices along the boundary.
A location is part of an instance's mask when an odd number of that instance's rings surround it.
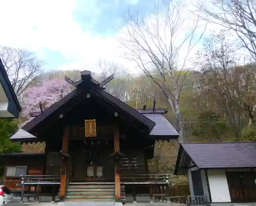
<svg viewBox="0 0 256 206">
<path fill-rule="evenodd" d="M 5 90 L 7 98 L 9 100 L 8 111 L 15 117 L 19 117 L 19 113 L 22 111 L 22 108 L 19 105 L 17 96 L 12 88 L 2 60 L 0 59 L 0 84 Z M 12 117 L 13 118 L 13 117 Z"/>
</svg>

